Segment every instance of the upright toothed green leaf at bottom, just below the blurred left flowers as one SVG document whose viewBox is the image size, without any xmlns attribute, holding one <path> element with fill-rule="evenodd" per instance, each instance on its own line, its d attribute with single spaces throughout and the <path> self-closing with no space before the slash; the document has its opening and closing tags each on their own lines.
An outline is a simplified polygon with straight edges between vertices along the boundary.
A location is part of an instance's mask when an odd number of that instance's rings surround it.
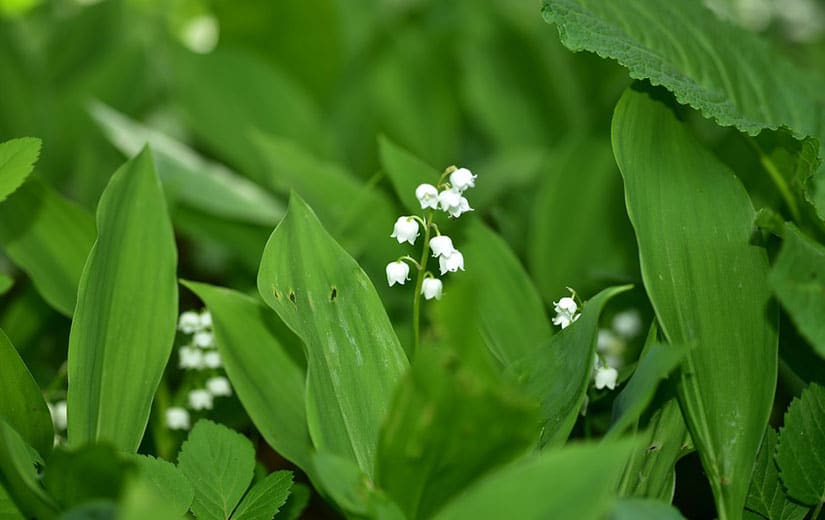
<svg viewBox="0 0 825 520">
<path fill-rule="evenodd" d="M 226 520 L 252 482 L 255 448 L 240 433 L 201 419 L 180 448 L 178 468 L 195 489 L 195 516 Z"/>
</svg>

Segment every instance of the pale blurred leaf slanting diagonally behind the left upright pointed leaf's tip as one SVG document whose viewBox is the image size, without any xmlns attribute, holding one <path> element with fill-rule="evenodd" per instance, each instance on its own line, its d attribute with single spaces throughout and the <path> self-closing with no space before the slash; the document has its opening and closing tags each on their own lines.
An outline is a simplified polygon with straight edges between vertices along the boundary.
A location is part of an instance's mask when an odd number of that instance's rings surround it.
<svg viewBox="0 0 825 520">
<path fill-rule="evenodd" d="M 269 192 L 225 166 L 208 161 L 166 134 L 132 121 L 95 102 L 89 111 L 109 140 L 125 155 L 152 147 L 167 200 L 229 220 L 273 226 L 286 208 Z"/>
</svg>

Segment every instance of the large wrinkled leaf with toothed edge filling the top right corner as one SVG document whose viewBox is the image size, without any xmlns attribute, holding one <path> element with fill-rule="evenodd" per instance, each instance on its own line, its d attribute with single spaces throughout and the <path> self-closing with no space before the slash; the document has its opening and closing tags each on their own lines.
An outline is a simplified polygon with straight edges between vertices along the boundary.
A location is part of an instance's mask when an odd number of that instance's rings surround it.
<svg viewBox="0 0 825 520">
<path fill-rule="evenodd" d="M 820 134 L 825 119 L 812 78 L 701 2 L 545 0 L 544 17 L 569 49 L 618 61 L 630 77 L 662 85 L 721 126 Z"/>
</svg>

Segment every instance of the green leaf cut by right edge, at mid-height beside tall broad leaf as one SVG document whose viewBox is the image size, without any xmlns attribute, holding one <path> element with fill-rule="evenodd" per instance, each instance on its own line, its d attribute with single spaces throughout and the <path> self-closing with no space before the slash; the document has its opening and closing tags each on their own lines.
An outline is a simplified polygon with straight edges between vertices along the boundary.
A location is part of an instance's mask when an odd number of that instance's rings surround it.
<svg viewBox="0 0 825 520">
<path fill-rule="evenodd" d="M 774 294 L 799 332 L 825 358 L 825 247 L 793 224 L 769 277 Z"/>
</svg>

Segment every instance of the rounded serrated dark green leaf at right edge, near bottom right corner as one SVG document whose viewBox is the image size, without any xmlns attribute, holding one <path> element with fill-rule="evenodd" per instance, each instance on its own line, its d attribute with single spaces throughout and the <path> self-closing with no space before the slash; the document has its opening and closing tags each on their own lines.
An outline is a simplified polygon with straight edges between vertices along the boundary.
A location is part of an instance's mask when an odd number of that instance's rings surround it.
<svg viewBox="0 0 825 520">
<path fill-rule="evenodd" d="M 791 498 L 806 505 L 825 502 L 825 387 L 812 383 L 791 402 L 776 463 Z"/>
</svg>

